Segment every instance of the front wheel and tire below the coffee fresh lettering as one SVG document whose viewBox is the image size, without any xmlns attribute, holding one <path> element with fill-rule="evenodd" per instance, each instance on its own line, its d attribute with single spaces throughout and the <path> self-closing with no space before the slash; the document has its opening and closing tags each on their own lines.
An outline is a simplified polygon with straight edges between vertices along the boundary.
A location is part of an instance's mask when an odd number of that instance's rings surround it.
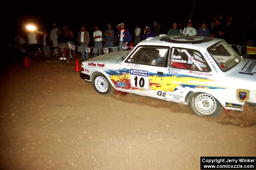
<svg viewBox="0 0 256 170">
<path fill-rule="evenodd" d="M 92 86 L 95 91 L 100 94 L 111 94 L 113 92 L 112 85 L 102 73 L 95 73 L 92 80 Z"/>
</svg>

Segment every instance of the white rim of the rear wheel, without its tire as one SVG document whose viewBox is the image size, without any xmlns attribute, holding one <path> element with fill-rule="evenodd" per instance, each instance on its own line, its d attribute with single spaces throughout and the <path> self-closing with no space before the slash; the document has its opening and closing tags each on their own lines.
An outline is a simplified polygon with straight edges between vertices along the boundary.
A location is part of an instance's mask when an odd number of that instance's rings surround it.
<svg viewBox="0 0 256 170">
<path fill-rule="evenodd" d="M 211 115 L 217 109 L 217 101 L 210 94 L 202 93 L 195 98 L 195 108 L 202 115 Z"/>
</svg>

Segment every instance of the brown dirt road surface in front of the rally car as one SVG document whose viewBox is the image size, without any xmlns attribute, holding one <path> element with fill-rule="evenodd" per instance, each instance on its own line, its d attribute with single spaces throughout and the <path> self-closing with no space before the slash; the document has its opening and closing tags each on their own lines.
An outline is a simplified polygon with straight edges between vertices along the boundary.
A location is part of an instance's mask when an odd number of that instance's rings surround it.
<svg viewBox="0 0 256 170">
<path fill-rule="evenodd" d="M 2 65 L 0 169 L 200 169 L 201 156 L 256 155 L 252 107 L 202 118 L 177 103 L 100 95 L 75 61 L 45 61 Z"/>
</svg>

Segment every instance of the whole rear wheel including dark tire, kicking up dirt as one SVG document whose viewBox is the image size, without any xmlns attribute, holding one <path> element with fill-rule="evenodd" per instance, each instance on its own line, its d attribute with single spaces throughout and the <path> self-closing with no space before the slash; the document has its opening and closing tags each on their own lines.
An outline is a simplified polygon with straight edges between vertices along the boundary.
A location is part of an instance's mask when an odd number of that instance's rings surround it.
<svg viewBox="0 0 256 170">
<path fill-rule="evenodd" d="M 222 112 L 222 105 L 212 95 L 195 93 L 190 97 L 192 111 L 198 116 L 217 117 Z"/>
</svg>

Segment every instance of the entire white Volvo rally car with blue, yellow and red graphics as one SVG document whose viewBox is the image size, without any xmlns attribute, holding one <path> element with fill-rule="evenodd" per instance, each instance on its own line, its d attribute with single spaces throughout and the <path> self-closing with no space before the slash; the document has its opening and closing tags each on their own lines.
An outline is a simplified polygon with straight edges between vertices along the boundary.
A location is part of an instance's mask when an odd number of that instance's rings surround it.
<svg viewBox="0 0 256 170">
<path fill-rule="evenodd" d="M 226 41 L 210 37 L 150 37 L 132 51 L 82 63 L 80 77 L 101 94 L 115 91 L 190 104 L 199 116 L 256 104 L 256 60 L 240 57 Z M 222 107 L 223 106 L 223 107 Z"/>
</svg>

